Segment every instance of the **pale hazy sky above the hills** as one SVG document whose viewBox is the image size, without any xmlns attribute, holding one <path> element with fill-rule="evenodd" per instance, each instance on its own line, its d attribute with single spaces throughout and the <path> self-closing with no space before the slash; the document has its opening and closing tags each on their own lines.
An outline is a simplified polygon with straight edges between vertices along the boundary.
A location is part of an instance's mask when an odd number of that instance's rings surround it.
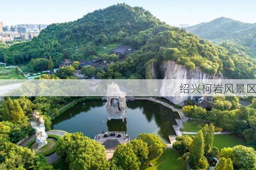
<svg viewBox="0 0 256 170">
<path fill-rule="evenodd" d="M 170 25 L 195 25 L 218 17 L 256 23 L 256 0 L 1 0 L 0 21 L 61 23 L 116 3 L 141 6 Z"/>
</svg>

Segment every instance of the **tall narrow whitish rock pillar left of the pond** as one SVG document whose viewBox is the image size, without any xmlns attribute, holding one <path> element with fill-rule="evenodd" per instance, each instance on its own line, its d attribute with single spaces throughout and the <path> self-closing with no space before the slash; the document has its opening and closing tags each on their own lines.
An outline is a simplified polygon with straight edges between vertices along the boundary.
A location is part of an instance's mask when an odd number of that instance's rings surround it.
<svg viewBox="0 0 256 170">
<path fill-rule="evenodd" d="M 47 144 L 47 133 L 45 132 L 44 119 L 39 112 L 34 111 L 32 114 L 33 121 L 30 122 L 33 129 L 35 129 L 35 142 L 37 149 L 40 149 Z"/>
</svg>

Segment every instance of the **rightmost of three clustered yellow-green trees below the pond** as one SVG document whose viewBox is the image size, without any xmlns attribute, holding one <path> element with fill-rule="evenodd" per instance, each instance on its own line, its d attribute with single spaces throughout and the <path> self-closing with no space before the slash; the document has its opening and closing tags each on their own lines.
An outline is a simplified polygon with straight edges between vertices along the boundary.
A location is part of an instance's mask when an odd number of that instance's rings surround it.
<svg viewBox="0 0 256 170">
<path fill-rule="evenodd" d="M 160 156 L 166 147 L 161 138 L 153 133 L 142 133 L 138 135 L 137 139 L 143 140 L 148 145 L 148 156 L 150 158 Z"/>
</svg>

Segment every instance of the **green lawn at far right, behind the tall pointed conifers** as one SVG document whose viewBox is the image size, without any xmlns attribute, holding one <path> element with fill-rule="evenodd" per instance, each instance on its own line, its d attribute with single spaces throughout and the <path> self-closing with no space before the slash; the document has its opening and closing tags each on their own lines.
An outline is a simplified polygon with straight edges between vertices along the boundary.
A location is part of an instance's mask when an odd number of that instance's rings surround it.
<svg viewBox="0 0 256 170">
<path fill-rule="evenodd" d="M 218 147 L 219 150 L 224 147 L 234 147 L 239 144 L 244 145 L 244 141 L 237 135 L 214 135 L 213 146 Z"/>
</svg>

